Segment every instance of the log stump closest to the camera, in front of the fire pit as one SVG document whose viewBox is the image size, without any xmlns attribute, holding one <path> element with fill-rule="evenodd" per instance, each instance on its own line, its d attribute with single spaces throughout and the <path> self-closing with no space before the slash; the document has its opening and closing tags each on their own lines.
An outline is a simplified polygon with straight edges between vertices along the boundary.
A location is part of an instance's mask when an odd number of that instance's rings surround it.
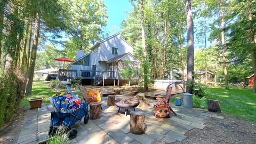
<svg viewBox="0 0 256 144">
<path fill-rule="evenodd" d="M 145 115 L 142 111 L 130 112 L 130 130 L 134 134 L 145 133 Z"/>
</svg>

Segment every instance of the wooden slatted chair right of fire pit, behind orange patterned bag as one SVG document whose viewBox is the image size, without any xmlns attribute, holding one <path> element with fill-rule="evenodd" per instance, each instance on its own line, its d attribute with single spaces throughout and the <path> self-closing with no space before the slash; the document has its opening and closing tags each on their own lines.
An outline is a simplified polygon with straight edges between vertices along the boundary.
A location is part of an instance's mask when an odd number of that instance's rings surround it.
<svg viewBox="0 0 256 144">
<path fill-rule="evenodd" d="M 173 109 L 170 107 L 169 105 L 169 101 L 171 99 L 171 92 L 172 92 L 172 84 L 168 85 L 166 87 L 166 94 L 165 95 L 162 95 L 162 94 L 155 94 L 155 98 L 156 98 L 156 103 L 154 103 L 154 107 L 156 105 L 160 105 L 161 102 L 165 102 L 167 103 L 167 105 L 169 106 L 170 110 L 172 111 L 172 113 L 177 116 L 177 114 L 175 114 L 175 112 L 173 111 Z"/>
</svg>

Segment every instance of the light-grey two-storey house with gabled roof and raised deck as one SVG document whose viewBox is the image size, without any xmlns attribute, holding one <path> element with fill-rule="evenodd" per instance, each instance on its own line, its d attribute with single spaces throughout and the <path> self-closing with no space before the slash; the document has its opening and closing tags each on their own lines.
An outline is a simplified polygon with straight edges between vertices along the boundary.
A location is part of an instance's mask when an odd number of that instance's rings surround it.
<svg viewBox="0 0 256 144">
<path fill-rule="evenodd" d="M 84 55 L 82 50 L 78 50 L 77 60 L 68 65 L 71 72 L 62 70 L 59 74 L 67 78 L 93 79 L 94 85 L 102 83 L 104 79 L 116 79 L 119 83 L 120 69 L 125 66 L 139 69 L 140 61 L 132 54 L 133 46 L 117 33 L 93 45 L 90 53 Z M 125 61 L 130 61 L 130 64 Z"/>
</svg>

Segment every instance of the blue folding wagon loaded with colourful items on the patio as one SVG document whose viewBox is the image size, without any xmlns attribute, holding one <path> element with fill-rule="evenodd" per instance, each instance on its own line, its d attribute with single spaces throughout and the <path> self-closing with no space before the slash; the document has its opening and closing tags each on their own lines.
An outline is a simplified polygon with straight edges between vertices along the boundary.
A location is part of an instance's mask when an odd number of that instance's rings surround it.
<svg viewBox="0 0 256 144">
<path fill-rule="evenodd" d="M 69 93 L 74 95 L 73 92 L 66 86 Z M 77 130 L 71 128 L 77 121 L 81 121 L 84 117 L 84 124 L 89 122 L 89 113 L 88 113 L 88 103 L 81 102 L 79 106 L 73 105 L 69 106 L 65 103 L 67 99 L 67 94 L 56 95 L 55 97 L 50 97 L 52 105 L 57 109 L 57 111 L 51 111 L 51 123 L 49 135 L 53 136 L 60 127 L 65 127 L 65 131 L 68 133 L 68 138 L 73 139 L 77 135 Z M 66 100 L 67 102 L 67 100 Z M 73 102 L 74 103 L 74 102 Z M 75 110 L 73 110 L 75 107 Z M 67 109 L 64 111 L 64 109 Z M 70 110 L 71 109 L 71 110 Z"/>
</svg>

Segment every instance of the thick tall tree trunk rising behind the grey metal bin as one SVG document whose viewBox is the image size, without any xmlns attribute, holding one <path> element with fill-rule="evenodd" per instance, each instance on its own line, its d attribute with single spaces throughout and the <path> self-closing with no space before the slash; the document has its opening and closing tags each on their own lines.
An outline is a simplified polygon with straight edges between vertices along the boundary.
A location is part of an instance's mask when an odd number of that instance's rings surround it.
<svg viewBox="0 0 256 144">
<path fill-rule="evenodd" d="M 187 82 L 193 82 L 194 73 L 194 23 L 191 10 L 191 1 L 186 0 L 186 15 L 187 15 L 187 42 L 188 42 L 188 55 L 187 55 Z M 187 93 L 193 93 L 193 85 L 188 85 Z"/>
</svg>

